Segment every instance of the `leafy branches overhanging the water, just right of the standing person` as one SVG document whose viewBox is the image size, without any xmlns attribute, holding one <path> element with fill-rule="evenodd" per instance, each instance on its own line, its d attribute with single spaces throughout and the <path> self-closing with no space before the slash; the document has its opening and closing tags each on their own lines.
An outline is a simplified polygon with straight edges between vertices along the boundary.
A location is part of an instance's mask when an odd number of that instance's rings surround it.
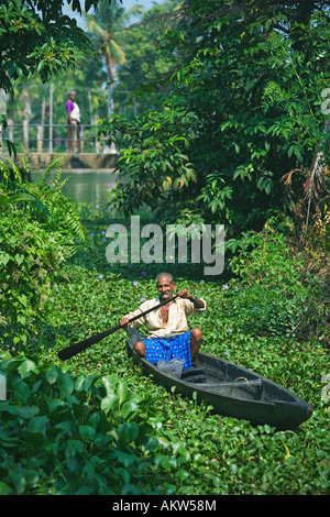
<svg viewBox="0 0 330 517">
<path fill-rule="evenodd" d="M 197 124 L 193 112 L 185 109 L 184 98 L 166 100 L 161 111 L 138 117 L 131 123 L 116 116 L 102 124 L 99 134 L 119 131 L 116 144 L 120 183 L 111 190 L 110 204 L 125 215 L 144 202 L 153 210 L 174 202 L 184 187 L 196 182 L 196 170 L 187 156 Z M 177 127 L 190 125 L 190 133 L 177 134 Z M 182 193 L 182 194 L 180 194 Z"/>
</svg>

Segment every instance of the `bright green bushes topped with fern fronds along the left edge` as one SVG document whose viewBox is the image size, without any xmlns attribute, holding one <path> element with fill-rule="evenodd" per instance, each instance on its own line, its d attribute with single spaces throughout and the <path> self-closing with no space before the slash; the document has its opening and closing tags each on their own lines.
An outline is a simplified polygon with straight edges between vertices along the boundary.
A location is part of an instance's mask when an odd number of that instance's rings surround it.
<svg viewBox="0 0 330 517">
<path fill-rule="evenodd" d="M 1 161 L 1 339 L 7 344 L 26 344 L 32 329 L 37 332 L 56 282 L 66 276 L 64 262 L 85 238 L 73 204 L 61 194 L 61 169 L 53 188 L 44 185 L 57 166 L 58 161 L 52 163 L 40 184 L 32 185 L 22 182 L 13 163 Z"/>
</svg>

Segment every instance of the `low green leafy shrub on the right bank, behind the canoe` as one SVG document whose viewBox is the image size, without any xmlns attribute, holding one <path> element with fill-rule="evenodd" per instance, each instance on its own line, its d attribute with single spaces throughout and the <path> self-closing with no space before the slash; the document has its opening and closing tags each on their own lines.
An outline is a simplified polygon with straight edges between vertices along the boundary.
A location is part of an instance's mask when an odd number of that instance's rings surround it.
<svg viewBox="0 0 330 517">
<path fill-rule="evenodd" d="M 241 329 L 258 333 L 294 332 L 307 288 L 301 282 L 304 261 L 293 256 L 282 233 L 265 230 L 242 238 L 231 260 L 241 287 L 230 297 Z"/>
</svg>

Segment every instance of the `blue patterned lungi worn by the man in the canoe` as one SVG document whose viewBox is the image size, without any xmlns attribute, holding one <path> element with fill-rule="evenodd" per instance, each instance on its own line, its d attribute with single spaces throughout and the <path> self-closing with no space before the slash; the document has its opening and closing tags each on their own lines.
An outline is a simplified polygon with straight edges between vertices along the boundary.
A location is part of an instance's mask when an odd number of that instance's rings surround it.
<svg viewBox="0 0 330 517">
<path fill-rule="evenodd" d="M 145 359 L 150 363 L 157 364 L 161 359 L 170 361 L 174 358 L 185 360 L 184 370 L 193 366 L 190 355 L 190 330 L 175 338 L 148 338 L 145 344 Z"/>
</svg>

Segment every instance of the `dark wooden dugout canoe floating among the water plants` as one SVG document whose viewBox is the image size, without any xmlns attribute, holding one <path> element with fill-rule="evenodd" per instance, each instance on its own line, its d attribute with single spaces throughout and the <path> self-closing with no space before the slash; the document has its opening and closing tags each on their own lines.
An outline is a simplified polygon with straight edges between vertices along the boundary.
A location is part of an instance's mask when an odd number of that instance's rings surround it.
<svg viewBox="0 0 330 517">
<path fill-rule="evenodd" d="M 226 417 L 249 420 L 253 426 L 270 425 L 277 430 L 296 429 L 312 414 L 312 405 L 289 389 L 257 373 L 205 352 L 198 353 L 198 367 L 185 371 L 180 378 L 164 373 L 139 356 L 135 341 L 145 339 L 135 329 L 128 329 L 128 348 L 143 373 L 166 388 L 187 397 L 197 394 L 197 403 L 212 406 Z M 191 375 L 193 374 L 193 375 Z M 186 375 L 186 378 L 184 378 Z M 197 381 L 197 382 L 196 382 Z"/>
</svg>

